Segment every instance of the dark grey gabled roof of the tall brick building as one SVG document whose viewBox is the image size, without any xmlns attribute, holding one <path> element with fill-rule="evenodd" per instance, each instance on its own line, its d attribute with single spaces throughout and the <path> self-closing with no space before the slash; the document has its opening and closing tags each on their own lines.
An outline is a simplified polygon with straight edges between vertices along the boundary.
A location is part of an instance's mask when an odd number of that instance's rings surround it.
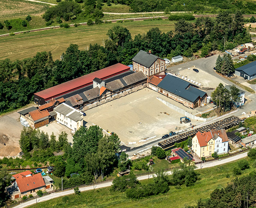
<svg viewBox="0 0 256 208">
<path fill-rule="evenodd" d="M 133 57 L 132 61 L 140 63 L 141 65 L 144 65 L 149 68 L 158 58 L 160 58 L 160 57 L 153 55 L 152 53 L 140 50 Z M 160 58 L 160 59 L 162 59 L 162 58 Z"/>
</svg>

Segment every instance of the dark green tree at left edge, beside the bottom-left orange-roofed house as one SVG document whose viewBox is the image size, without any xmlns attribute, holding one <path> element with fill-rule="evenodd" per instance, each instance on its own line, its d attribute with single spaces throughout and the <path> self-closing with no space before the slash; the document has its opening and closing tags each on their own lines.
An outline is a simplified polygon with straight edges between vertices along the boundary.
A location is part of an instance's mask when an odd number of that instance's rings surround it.
<svg viewBox="0 0 256 208">
<path fill-rule="evenodd" d="M 8 195 L 5 188 L 10 185 L 11 175 L 7 172 L 7 168 L 0 170 L 0 207 L 5 206 Z"/>
</svg>

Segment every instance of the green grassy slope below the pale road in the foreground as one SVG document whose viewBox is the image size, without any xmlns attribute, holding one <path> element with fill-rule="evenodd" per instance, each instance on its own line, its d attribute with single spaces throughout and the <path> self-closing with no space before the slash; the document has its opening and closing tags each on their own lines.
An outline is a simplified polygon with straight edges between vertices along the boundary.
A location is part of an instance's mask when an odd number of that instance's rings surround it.
<svg viewBox="0 0 256 208">
<path fill-rule="evenodd" d="M 250 161 L 252 164 L 252 161 Z M 175 207 L 183 208 L 186 205 L 194 205 L 200 198 L 205 199 L 215 188 L 223 188 L 235 177 L 232 175 L 232 169 L 236 162 L 230 162 L 224 165 L 196 170 L 200 174 L 200 180 L 193 187 L 181 186 L 180 189 L 171 186 L 166 194 L 152 196 L 141 200 L 130 200 L 126 198 L 125 193 L 111 192 L 110 188 L 102 188 L 82 192 L 81 195 L 70 195 L 65 200 L 63 197 L 55 198 L 46 202 L 30 206 L 32 208 L 84 208 L 84 207 L 111 207 L 111 208 L 146 208 L 146 207 Z M 248 174 L 254 168 L 244 170 L 242 175 Z M 230 174 L 230 178 L 226 178 Z M 170 176 L 171 177 L 171 176 Z M 150 180 L 144 180 L 142 183 L 148 183 Z"/>
</svg>

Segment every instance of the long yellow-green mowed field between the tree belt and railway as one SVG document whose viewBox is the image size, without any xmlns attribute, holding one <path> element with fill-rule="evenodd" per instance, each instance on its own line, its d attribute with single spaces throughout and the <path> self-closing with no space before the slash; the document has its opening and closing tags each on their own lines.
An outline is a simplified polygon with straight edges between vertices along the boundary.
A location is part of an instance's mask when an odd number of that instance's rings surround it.
<svg viewBox="0 0 256 208">
<path fill-rule="evenodd" d="M 136 34 L 146 33 L 154 27 L 158 27 L 162 32 L 174 30 L 174 21 L 137 21 L 78 26 L 0 37 L 0 59 L 24 59 L 33 57 L 36 52 L 43 51 L 51 51 L 53 58 L 59 59 L 70 44 L 77 44 L 80 50 L 88 48 L 90 44 L 103 45 L 104 41 L 108 39 L 106 33 L 113 26 L 127 28 L 134 37 Z"/>
</svg>

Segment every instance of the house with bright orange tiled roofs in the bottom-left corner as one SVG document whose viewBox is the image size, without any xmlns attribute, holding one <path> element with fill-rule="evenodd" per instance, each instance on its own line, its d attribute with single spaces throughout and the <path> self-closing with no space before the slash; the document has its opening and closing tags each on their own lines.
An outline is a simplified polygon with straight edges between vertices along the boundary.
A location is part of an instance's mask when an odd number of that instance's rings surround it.
<svg viewBox="0 0 256 208">
<path fill-rule="evenodd" d="M 38 190 L 44 191 L 46 185 L 40 173 L 32 174 L 29 170 L 13 175 L 14 182 L 6 188 L 12 199 L 34 195 Z"/>
</svg>

